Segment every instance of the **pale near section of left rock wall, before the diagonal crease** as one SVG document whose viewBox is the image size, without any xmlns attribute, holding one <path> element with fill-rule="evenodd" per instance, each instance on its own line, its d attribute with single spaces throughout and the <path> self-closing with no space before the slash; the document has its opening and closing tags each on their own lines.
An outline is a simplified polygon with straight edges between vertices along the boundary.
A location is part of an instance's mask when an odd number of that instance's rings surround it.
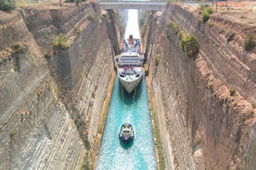
<svg viewBox="0 0 256 170">
<path fill-rule="evenodd" d="M 0 169 L 79 169 L 83 142 L 57 98 L 32 33 L 19 13 L 9 15 L 1 27 Z M 24 52 L 10 49 L 17 42 Z"/>
</svg>

